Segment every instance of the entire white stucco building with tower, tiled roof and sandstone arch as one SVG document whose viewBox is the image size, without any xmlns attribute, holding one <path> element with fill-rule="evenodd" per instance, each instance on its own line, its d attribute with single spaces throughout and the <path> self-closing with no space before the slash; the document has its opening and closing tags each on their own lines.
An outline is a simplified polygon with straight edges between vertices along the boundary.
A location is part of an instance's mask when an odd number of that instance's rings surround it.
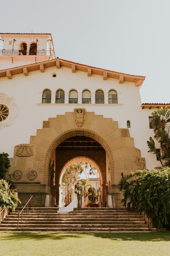
<svg viewBox="0 0 170 256">
<path fill-rule="evenodd" d="M 122 172 L 160 166 L 146 142 L 161 104 L 141 103 L 145 77 L 55 59 L 51 34 L 1 38 L 0 152 L 10 155 L 23 203 L 34 193 L 36 206 L 46 194 L 57 204 L 62 172 L 85 161 L 100 174 L 100 205 L 109 189 L 119 206 Z"/>
</svg>

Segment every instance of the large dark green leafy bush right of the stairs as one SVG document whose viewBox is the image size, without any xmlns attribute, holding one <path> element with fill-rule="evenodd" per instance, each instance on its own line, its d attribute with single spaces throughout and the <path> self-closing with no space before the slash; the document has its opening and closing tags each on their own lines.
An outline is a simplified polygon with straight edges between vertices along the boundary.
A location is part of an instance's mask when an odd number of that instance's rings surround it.
<svg viewBox="0 0 170 256">
<path fill-rule="evenodd" d="M 123 206 L 145 211 L 156 228 L 170 227 L 170 168 L 137 170 L 119 182 Z"/>
</svg>

